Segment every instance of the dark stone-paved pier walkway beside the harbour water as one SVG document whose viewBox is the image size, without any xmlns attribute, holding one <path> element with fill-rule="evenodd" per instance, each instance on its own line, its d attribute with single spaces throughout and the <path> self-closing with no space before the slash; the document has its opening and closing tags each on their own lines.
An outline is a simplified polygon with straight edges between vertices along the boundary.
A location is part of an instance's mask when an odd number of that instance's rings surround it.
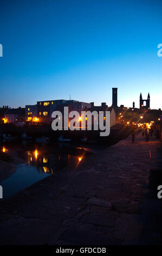
<svg viewBox="0 0 162 256">
<path fill-rule="evenodd" d="M 161 164 L 161 142 L 141 135 L 83 157 L 1 202 L 0 243 L 160 244 L 162 199 L 147 186 Z"/>
</svg>

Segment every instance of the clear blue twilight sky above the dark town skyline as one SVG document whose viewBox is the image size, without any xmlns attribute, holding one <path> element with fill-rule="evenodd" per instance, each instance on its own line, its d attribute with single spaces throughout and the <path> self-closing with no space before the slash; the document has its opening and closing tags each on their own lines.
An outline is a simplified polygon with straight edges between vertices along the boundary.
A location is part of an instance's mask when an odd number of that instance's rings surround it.
<svg viewBox="0 0 162 256">
<path fill-rule="evenodd" d="M 162 1 L 0 0 L 0 106 L 69 99 L 162 108 Z"/>
</svg>

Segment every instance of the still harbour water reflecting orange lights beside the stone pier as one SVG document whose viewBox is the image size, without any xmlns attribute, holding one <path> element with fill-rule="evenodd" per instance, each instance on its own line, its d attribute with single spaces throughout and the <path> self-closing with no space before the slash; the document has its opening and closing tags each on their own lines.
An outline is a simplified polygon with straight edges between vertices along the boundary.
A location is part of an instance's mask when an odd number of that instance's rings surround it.
<svg viewBox="0 0 162 256">
<path fill-rule="evenodd" d="M 24 145 L 6 142 L 0 144 L 0 151 L 9 154 L 17 163 L 16 172 L 1 182 L 4 188 L 4 198 L 64 167 L 71 165 L 77 167 L 84 157 L 83 155 L 72 155 L 71 149 L 68 151 L 53 144 L 41 146 L 35 143 Z"/>
</svg>

